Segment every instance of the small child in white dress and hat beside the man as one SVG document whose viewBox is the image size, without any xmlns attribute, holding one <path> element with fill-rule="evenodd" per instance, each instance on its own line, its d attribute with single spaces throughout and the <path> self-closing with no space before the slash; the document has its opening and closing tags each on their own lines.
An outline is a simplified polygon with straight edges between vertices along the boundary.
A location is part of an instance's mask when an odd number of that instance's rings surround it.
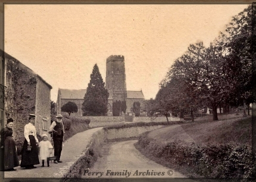
<svg viewBox="0 0 256 182">
<path fill-rule="evenodd" d="M 47 134 L 42 135 L 42 141 L 39 142 L 39 148 L 40 148 L 40 153 L 39 153 L 39 158 L 42 160 L 42 167 L 45 167 L 45 160 L 50 156 L 50 153 L 52 153 L 52 144 L 48 140 Z M 47 161 L 47 166 L 50 167 L 49 161 Z"/>
</svg>

